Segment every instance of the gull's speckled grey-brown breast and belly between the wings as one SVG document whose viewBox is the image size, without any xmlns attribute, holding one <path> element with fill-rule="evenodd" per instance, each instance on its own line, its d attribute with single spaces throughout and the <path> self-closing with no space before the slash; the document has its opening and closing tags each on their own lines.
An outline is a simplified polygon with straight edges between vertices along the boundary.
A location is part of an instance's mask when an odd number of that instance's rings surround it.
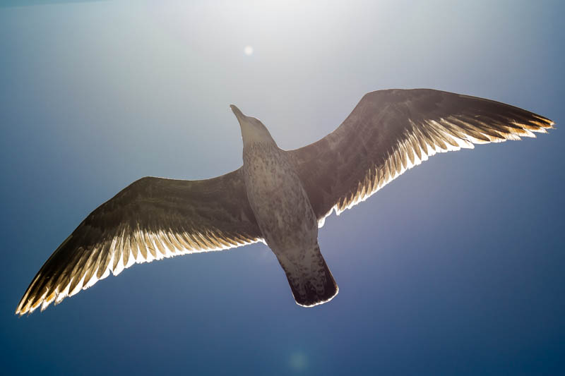
<svg viewBox="0 0 565 376">
<path fill-rule="evenodd" d="M 263 238 L 275 253 L 316 241 L 318 224 L 314 210 L 283 150 L 244 150 L 244 181 Z"/>
</svg>

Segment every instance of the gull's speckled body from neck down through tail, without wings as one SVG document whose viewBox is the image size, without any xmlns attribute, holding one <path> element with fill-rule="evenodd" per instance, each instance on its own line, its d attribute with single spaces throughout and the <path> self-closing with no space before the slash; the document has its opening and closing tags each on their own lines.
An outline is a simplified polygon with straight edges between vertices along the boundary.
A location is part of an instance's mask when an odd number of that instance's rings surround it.
<svg viewBox="0 0 565 376">
<path fill-rule="evenodd" d="M 244 147 L 247 198 L 263 239 L 277 256 L 300 305 L 338 292 L 318 245 L 318 220 L 295 166 L 274 142 Z"/>
</svg>

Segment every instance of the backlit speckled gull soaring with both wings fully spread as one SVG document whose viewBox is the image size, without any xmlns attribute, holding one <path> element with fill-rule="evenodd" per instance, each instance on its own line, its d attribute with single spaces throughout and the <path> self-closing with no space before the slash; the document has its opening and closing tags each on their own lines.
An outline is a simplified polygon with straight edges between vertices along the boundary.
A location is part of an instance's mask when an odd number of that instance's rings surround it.
<svg viewBox="0 0 565 376">
<path fill-rule="evenodd" d="M 142 262 L 263 241 L 298 305 L 331 301 L 338 284 L 318 231 L 438 152 L 547 133 L 554 122 L 490 99 L 433 89 L 369 92 L 326 137 L 282 150 L 263 123 L 230 105 L 243 166 L 215 178 L 144 177 L 97 207 L 44 262 L 16 315 L 41 310 Z"/>
</svg>

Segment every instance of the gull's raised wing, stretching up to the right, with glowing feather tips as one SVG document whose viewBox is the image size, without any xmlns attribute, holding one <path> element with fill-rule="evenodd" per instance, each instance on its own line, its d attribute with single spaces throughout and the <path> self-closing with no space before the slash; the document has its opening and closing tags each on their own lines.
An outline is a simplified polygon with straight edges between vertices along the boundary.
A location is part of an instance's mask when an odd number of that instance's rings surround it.
<svg viewBox="0 0 565 376">
<path fill-rule="evenodd" d="M 364 95 L 325 138 L 291 150 L 323 224 L 365 200 L 436 152 L 546 133 L 553 122 L 508 104 L 439 90 L 379 90 Z"/>
</svg>

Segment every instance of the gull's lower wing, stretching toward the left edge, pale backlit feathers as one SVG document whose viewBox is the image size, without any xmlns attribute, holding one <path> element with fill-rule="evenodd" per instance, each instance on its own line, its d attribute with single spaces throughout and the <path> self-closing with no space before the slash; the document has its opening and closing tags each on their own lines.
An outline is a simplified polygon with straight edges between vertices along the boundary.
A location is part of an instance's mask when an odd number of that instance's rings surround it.
<svg viewBox="0 0 565 376">
<path fill-rule="evenodd" d="M 59 303 L 133 263 L 261 240 L 241 169 L 199 181 L 141 178 L 100 205 L 44 263 L 16 314 Z"/>
</svg>

